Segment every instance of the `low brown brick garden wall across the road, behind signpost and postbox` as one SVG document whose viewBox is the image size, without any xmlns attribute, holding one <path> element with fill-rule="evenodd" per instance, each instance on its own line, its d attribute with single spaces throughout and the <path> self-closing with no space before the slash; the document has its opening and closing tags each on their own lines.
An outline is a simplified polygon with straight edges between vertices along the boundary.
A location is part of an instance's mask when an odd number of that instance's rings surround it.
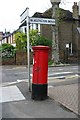
<svg viewBox="0 0 80 120">
<path fill-rule="evenodd" d="M 49 51 L 49 60 L 51 59 L 51 50 Z M 33 53 L 30 52 L 30 63 L 33 63 Z M 26 65 L 27 64 L 27 52 L 17 51 L 13 58 L 5 58 L 0 62 L 2 65 Z"/>
</svg>

